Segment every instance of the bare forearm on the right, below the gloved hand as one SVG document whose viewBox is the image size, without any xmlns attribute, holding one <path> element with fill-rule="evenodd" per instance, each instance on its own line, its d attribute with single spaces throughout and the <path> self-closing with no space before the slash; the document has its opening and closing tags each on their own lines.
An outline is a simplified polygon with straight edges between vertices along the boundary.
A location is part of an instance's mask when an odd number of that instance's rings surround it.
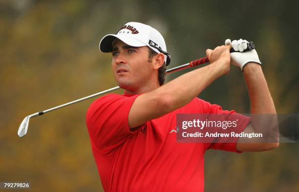
<svg viewBox="0 0 299 192">
<path fill-rule="evenodd" d="M 251 124 L 256 133 L 262 133 L 258 139 L 256 151 L 264 151 L 278 147 L 278 124 L 276 109 L 271 97 L 267 81 L 261 66 L 257 63 L 248 63 L 244 67 L 244 77 L 251 101 Z"/>
</svg>

